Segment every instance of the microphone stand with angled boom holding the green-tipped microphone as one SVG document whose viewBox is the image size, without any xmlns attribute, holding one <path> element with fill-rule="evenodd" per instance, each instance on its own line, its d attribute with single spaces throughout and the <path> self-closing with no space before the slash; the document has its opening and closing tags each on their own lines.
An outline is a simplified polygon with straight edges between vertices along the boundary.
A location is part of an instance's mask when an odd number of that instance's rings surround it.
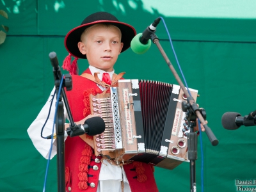
<svg viewBox="0 0 256 192">
<path fill-rule="evenodd" d="M 211 141 L 211 144 L 213 146 L 218 145 L 219 141 L 217 140 L 216 136 L 214 136 L 213 132 L 211 131 L 210 127 L 208 127 L 208 125 L 205 122 L 204 117 L 202 116 L 200 109 L 198 108 L 198 105 L 196 104 L 195 100 L 193 99 L 193 97 L 191 97 L 188 93 L 188 90 L 185 88 L 184 84 L 182 83 L 179 75 L 177 74 L 175 68 L 173 67 L 171 61 L 168 59 L 168 56 L 166 55 L 166 53 L 163 50 L 163 47 L 161 46 L 161 44 L 159 43 L 159 38 L 157 38 L 156 34 L 154 33 L 154 31 L 152 32 L 152 34 L 150 35 L 150 38 L 152 40 L 152 42 L 154 42 L 154 44 L 157 45 L 157 48 L 159 49 L 159 51 L 161 52 L 164 60 L 166 61 L 168 67 L 170 68 L 170 70 L 173 73 L 173 76 L 175 77 L 175 79 L 177 80 L 177 82 L 179 83 L 180 87 L 182 88 L 183 92 L 185 93 L 186 97 L 187 97 L 187 102 L 182 102 L 182 111 L 190 113 L 190 114 L 195 114 L 196 117 L 200 120 L 200 122 L 202 123 L 202 125 L 204 125 L 205 128 L 205 132 L 209 138 L 209 140 Z M 188 112 L 189 111 L 189 112 Z M 188 159 L 190 161 L 190 173 L 191 173 L 191 192 L 196 192 L 196 182 L 195 182 L 195 160 L 197 159 L 197 135 L 196 132 L 194 132 L 194 127 L 195 127 L 195 123 L 191 123 L 190 119 L 189 120 L 189 124 L 191 125 L 191 131 L 188 133 Z"/>
</svg>

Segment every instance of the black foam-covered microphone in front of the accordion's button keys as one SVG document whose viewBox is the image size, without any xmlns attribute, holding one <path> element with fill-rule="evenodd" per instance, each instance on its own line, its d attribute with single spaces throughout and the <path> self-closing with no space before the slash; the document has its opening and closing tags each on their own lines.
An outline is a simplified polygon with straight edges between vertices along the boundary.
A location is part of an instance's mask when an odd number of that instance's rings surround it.
<svg viewBox="0 0 256 192">
<path fill-rule="evenodd" d="M 99 116 L 93 116 L 92 118 L 88 118 L 83 125 L 76 125 L 74 127 L 67 128 L 67 134 L 70 137 L 79 136 L 84 133 L 95 136 L 105 131 L 105 122 Z M 67 135 L 66 135 L 67 136 Z M 51 139 L 51 135 L 47 136 L 47 139 Z"/>
</svg>

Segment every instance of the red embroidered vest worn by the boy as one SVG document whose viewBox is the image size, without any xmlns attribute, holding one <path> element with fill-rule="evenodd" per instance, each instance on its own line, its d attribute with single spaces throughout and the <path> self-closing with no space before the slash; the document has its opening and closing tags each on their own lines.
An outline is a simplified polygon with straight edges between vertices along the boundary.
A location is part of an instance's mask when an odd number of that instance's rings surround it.
<svg viewBox="0 0 256 192">
<path fill-rule="evenodd" d="M 84 73 L 91 74 L 89 68 Z M 74 122 L 90 115 L 90 94 L 102 93 L 93 81 L 81 76 L 72 76 L 72 90 L 67 91 L 68 104 Z M 97 191 L 101 163 L 93 155 L 93 149 L 79 136 L 65 141 L 66 190 L 77 192 Z M 145 163 L 131 163 L 124 166 L 132 192 L 157 192 L 152 166 Z M 139 182 L 140 181 L 140 182 Z M 143 181 L 143 182 L 141 182 Z"/>
</svg>

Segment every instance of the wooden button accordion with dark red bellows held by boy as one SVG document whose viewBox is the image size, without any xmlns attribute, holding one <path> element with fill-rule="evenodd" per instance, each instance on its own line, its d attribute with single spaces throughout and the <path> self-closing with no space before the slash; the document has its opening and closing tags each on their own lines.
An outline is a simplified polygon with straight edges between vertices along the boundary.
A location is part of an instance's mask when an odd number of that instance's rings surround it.
<svg viewBox="0 0 256 192">
<path fill-rule="evenodd" d="M 186 95 L 175 84 L 119 80 L 110 93 L 90 95 L 91 113 L 104 119 L 106 129 L 93 136 L 96 156 L 117 164 L 141 161 L 172 170 L 188 161 L 181 103 Z M 197 90 L 189 88 L 196 100 Z"/>
</svg>

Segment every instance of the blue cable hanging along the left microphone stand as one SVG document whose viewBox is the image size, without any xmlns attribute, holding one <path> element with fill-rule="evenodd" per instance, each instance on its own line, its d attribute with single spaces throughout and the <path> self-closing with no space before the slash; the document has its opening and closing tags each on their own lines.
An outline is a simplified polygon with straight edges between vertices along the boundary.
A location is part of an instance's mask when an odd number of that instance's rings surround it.
<svg viewBox="0 0 256 192">
<path fill-rule="evenodd" d="M 58 97 L 57 97 L 56 106 L 58 106 L 58 104 L 59 104 L 60 93 L 61 93 L 61 87 L 62 87 L 62 83 L 63 83 L 63 79 L 64 79 L 63 77 L 64 77 L 64 75 L 61 77 L 60 89 L 59 89 L 59 92 L 58 92 Z M 55 91 L 55 92 L 56 92 L 56 91 Z M 54 94 L 55 94 L 55 92 L 54 92 Z M 52 97 L 52 100 L 53 100 L 53 97 Z M 51 109 L 50 109 L 50 110 L 51 110 Z M 54 125 L 55 125 L 55 122 L 56 122 L 56 115 L 57 115 L 57 108 L 55 109 L 54 122 L 53 122 L 53 125 L 52 125 L 51 148 L 50 148 L 49 157 L 48 157 L 48 160 L 47 160 L 47 166 L 46 166 L 46 172 L 45 172 L 45 179 L 44 179 L 44 189 L 43 189 L 43 192 L 45 192 L 45 188 L 46 188 L 46 181 L 47 181 L 47 175 L 48 175 L 48 170 L 49 170 L 50 157 L 51 157 L 51 153 L 52 153 L 52 141 L 53 141 L 53 135 L 54 135 Z M 47 118 L 47 120 L 48 120 L 48 118 Z"/>
</svg>

